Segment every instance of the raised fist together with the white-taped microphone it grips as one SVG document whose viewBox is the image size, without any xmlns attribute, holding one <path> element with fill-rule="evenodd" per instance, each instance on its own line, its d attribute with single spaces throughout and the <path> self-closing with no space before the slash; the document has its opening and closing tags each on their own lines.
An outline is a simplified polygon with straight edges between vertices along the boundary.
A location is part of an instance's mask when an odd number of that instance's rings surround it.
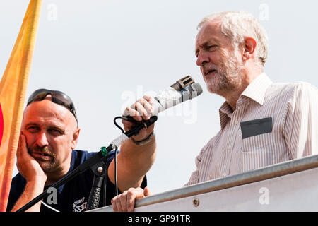
<svg viewBox="0 0 318 226">
<path fill-rule="evenodd" d="M 122 118 L 124 118 L 122 123 L 126 132 L 112 141 L 112 144 L 114 147 L 119 147 L 124 141 L 132 137 L 132 141 L 141 141 L 141 143 L 135 143 L 143 145 L 142 141 L 150 140 L 153 134 L 153 123 L 157 121 L 160 112 L 191 100 L 201 95 L 201 93 L 201 85 L 194 83 L 191 76 L 186 76 L 165 88 L 154 98 L 145 95 L 125 109 L 122 115 Z"/>
</svg>

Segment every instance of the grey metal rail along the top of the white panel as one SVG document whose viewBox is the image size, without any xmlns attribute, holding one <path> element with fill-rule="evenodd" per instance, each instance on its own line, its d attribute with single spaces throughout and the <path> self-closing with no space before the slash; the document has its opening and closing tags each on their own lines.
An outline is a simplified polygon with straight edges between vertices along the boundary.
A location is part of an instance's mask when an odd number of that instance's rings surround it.
<svg viewBox="0 0 318 226">
<path fill-rule="evenodd" d="M 165 191 L 160 194 L 155 194 L 153 196 L 141 198 L 136 201 L 135 208 L 141 206 L 148 206 L 155 203 L 163 203 L 165 201 L 172 201 L 178 198 L 185 198 L 189 196 L 204 194 L 211 191 L 228 189 L 243 184 L 259 182 L 262 180 L 271 179 L 274 177 L 281 177 L 287 174 L 293 174 L 295 172 L 301 172 L 316 167 L 318 167 L 318 155 L 303 157 L 298 160 L 290 160 L 288 162 L 270 165 L 268 167 L 255 169 L 249 172 L 244 172 L 242 174 L 235 174 L 229 177 L 214 179 L 208 182 L 202 182 L 191 186 L 184 186 L 179 189 Z M 109 212 L 112 211 L 112 206 L 99 208 L 94 211 Z"/>
</svg>

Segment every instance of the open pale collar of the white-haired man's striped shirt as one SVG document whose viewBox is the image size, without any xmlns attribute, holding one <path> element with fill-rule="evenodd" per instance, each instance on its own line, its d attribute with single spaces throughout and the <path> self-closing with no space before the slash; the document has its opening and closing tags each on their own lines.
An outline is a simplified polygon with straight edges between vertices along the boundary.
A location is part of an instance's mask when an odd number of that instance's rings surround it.
<svg viewBox="0 0 318 226">
<path fill-rule="evenodd" d="M 259 105 L 264 104 L 264 99 L 266 95 L 266 90 L 269 88 L 273 82 L 266 76 L 266 73 L 261 73 L 257 78 L 255 78 L 252 83 L 250 83 L 244 92 L 240 95 L 237 100 L 237 106 L 244 104 L 248 100 L 254 100 L 259 103 Z M 220 114 L 220 125 L 223 130 L 228 121 L 232 118 L 232 108 L 228 102 L 224 104 L 219 109 Z"/>
</svg>

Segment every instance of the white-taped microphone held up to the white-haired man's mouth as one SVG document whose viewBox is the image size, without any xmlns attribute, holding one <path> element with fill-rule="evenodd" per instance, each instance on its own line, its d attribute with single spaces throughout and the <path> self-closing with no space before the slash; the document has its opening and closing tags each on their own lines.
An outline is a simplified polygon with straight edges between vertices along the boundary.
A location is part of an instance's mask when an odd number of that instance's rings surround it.
<svg viewBox="0 0 318 226">
<path fill-rule="evenodd" d="M 165 88 L 165 90 L 161 91 L 154 97 L 156 101 L 153 103 L 153 107 L 155 107 L 155 109 L 151 119 L 148 121 L 137 122 L 130 116 L 122 117 L 122 119 L 126 121 L 136 123 L 136 126 L 134 129 L 131 129 L 131 131 L 122 133 L 121 136 L 112 141 L 111 144 L 113 145 L 113 148 L 118 148 L 131 136 L 138 134 L 141 129 L 147 128 L 148 126 L 151 126 L 151 124 L 155 123 L 160 112 L 163 112 L 170 107 L 174 107 L 184 101 L 192 100 L 193 98 L 201 95 L 201 93 L 203 93 L 201 85 L 199 83 L 195 83 L 191 76 L 179 79 L 177 82 L 172 84 L 170 87 Z"/>
</svg>

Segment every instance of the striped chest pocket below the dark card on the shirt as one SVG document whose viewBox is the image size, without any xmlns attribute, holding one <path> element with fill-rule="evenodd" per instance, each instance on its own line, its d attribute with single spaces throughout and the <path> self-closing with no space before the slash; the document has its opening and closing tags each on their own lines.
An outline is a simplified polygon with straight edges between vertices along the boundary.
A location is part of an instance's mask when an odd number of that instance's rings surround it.
<svg viewBox="0 0 318 226">
<path fill-rule="evenodd" d="M 265 133 L 242 140 L 240 150 L 241 172 L 275 164 L 272 136 L 272 133 Z"/>
</svg>

